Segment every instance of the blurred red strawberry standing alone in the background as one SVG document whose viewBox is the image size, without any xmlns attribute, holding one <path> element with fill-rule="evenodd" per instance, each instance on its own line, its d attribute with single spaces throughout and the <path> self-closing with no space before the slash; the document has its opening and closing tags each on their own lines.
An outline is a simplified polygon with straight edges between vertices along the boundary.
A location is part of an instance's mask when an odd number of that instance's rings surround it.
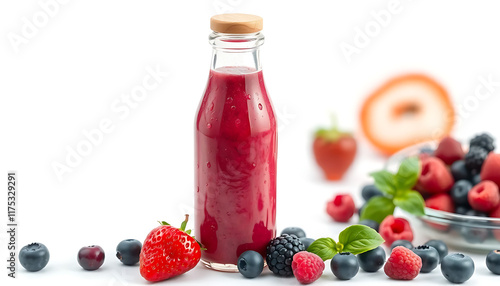
<svg viewBox="0 0 500 286">
<path fill-rule="evenodd" d="M 349 169 L 356 156 L 356 140 L 350 133 L 331 129 L 316 132 L 313 143 L 314 157 L 328 180 L 338 181 Z"/>
</svg>

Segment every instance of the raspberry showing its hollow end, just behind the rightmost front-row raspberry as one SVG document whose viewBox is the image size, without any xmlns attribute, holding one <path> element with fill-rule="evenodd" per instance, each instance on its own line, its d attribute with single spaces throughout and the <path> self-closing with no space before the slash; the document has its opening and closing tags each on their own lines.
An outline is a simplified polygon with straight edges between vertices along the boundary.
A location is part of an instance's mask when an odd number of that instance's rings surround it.
<svg viewBox="0 0 500 286">
<path fill-rule="evenodd" d="M 404 239 L 413 241 L 413 231 L 410 223 L 404 218 L 388 215 L 380 224 L 380 236 L 385 240 L 385 245 L 390 246 L 394 241 Z"/>
</svg>

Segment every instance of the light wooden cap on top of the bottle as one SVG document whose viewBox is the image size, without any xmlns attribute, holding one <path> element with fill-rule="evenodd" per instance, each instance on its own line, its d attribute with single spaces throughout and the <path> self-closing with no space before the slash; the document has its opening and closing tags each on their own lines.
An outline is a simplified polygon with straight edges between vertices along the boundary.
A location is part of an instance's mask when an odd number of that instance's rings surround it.
<svg viewBox="0 0 500 286">
<path fill-rule="evenodd" d="M 210 29 L 227 34 L 250 34 L 262 30 L 262 17 L 249 14 L 220 14 L 210 18 Z"/>
</svg>

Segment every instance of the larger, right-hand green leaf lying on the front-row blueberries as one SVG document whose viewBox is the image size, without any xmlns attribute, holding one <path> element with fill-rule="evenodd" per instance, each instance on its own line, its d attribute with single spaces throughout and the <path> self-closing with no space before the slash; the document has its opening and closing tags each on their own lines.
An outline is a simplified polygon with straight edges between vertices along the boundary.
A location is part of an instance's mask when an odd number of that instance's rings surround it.
<svg viewBox="0 0 500 286">
<path fill-rule="evenodd" d="M 343 245 L 343 252 L 354 255 L 372 250 L 384 243 L 384 239 L 371 227 L 366 225 L 351 225 L 339 234 L 338 244 Z"/>
</svg>

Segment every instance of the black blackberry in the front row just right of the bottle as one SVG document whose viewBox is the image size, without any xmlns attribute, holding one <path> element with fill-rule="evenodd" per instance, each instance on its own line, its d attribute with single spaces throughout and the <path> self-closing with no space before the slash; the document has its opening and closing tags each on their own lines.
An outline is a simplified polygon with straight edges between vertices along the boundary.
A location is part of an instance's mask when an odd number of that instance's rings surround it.
<svg viewBox="0 0 500 286">
<path fill-rule="evenodd" d="M 282 234 L 267 244 L 266 262 L 274 274 L 293 276 L 292 258 L 295 253 L 304 251 L 304 244 L 295 234 Z"/>
</svg>

